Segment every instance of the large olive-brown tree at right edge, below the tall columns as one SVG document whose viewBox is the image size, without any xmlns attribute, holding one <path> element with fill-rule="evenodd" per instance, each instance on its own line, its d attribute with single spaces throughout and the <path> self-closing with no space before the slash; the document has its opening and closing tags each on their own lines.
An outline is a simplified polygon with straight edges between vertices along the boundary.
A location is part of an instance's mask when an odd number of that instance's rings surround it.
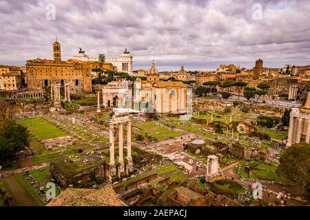
<svg viewBox="0 0 310 220">
<path fill-rule="evenodd" d="M 287 184 L 310 192 L 310 144 L 293 144 L 280 156 L 277 173 Z"/>
</svg>

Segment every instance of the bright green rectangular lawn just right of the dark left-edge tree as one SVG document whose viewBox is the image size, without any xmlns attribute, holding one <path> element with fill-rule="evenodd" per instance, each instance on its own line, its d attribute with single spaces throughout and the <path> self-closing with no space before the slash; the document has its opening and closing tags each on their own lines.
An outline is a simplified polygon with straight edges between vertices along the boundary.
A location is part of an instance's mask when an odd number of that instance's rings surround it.
<svg viewBox="0 0 310 220">
<path fill-rule="evenodd" d="M 39 140 L 68 135 L 65 131 L 61 131 L 61 129 L 56 128 L 56 126 L 45 122 L 42 118 L 28 118 L 20 120 L 19 122 L 23 126 L 26 126 Z"/>
</svg>

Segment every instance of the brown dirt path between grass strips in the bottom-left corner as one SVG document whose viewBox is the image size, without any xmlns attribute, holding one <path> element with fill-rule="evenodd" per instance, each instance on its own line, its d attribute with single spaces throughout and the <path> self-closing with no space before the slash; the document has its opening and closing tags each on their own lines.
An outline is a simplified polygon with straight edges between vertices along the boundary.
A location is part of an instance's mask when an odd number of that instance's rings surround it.
<svg viewBox="0 0 310 220">
<path fill-rule="evenodd" d="M 39 206 L 37 201 L 34 200 L 15 176 L 2 178 L 1 181 L 3 181 L 10 195 L 14 198 L 17 206 Z"/>
</svg>

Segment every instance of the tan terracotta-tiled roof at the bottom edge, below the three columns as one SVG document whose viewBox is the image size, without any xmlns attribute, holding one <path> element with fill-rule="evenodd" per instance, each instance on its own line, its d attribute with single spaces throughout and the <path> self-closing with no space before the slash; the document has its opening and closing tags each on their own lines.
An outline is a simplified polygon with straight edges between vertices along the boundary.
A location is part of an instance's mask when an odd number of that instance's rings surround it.
<svg viewBox="0 0 310 220">
<path fill-rule="evenodd" d="M 67 188 L 47 206 L 126 206 L 111 185 L 99 190 Z"/>
</svg>

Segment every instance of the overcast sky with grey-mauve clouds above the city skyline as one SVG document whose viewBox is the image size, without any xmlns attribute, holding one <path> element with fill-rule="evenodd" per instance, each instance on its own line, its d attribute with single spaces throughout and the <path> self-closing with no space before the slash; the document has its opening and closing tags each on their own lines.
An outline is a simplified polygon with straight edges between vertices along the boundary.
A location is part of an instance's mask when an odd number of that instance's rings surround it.
<svg viewBox="0 0 310 220">
<path fill-rule="evenodd" d="M 310 63 L 308 0 L 0 0 L 0 17 L 0 64 L 52 58 L 56 34 L 63 60 L 127 47 L 134 69 Z"/>
</svg>

